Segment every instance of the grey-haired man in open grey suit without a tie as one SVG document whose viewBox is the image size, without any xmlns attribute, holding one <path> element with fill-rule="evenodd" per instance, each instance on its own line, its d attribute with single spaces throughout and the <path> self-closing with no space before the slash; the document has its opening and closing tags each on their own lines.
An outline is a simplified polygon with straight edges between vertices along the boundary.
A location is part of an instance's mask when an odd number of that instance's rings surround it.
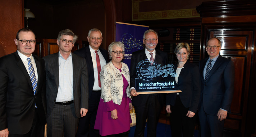
<svg viewBox="0 0 256 137">
<path fill-rule="evenodd" d="M 44 57 L 46 66 L 47 137 L 75 137 L 88 111 L 86 60 L 71 53 L 77 36 L 69 29 L 57 38 L 59 52 Z"/>
</svg>

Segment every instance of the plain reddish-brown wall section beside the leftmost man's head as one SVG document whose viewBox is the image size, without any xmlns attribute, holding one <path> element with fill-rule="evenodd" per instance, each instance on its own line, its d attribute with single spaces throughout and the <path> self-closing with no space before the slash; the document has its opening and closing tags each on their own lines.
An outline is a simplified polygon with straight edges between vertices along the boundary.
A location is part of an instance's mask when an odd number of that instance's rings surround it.
<svg viewBox="0 0 256 137">
<path fill-rule="evenodd" d="M 0 4 L 0 57 L 17 50 L 16 33 L 24 28 L 23 0 L 1 0 Z"/>
</svg>

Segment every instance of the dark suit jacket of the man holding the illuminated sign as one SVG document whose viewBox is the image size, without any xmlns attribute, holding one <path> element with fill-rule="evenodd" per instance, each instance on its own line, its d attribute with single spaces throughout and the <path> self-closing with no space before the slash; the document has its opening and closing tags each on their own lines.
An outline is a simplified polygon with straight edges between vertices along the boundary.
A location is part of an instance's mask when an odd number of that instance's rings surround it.
<svg viewBox="0 0 256 137">
<path fill-rule="evenodd" d="M 138 65 L 138 63 L 140 63 L 144 59 L 147 59 L 147 56 L 145 54 L 145 49 L 138 50 L 132 53 L 131 67 L 130 67 L 130 70 L 131 70 L 130 71 L 130 79 L 131 79 L 130 87 L 135 88 L 135 78 L 138 78 L 136 75 L 136 66 Z M 163 67 L 166 64 L 166 59 L 167 59 L 167 53 L 163 52 L 162 50 L 156 49 L 156 56 L 155 56 L 154 62 L 156 62 L 156 64 L 161 64 L 161 67 Z M 162 105 L 164 105 L 163 104 L 165 101 L 164 94 L 157 94 L 157 96 L 159 96 L 159 99 Z M 142 98 L 143 98 L 143 95 L 138 95 L 136 97 L 133 97 L 132 103 L 134 104 L 134 106 L 140 105 Z"/>
</svg>

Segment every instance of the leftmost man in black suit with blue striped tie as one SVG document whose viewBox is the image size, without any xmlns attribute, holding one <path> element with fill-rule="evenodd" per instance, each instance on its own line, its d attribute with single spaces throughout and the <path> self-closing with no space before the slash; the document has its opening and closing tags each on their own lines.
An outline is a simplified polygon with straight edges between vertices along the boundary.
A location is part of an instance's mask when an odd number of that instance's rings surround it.
<svg viewBox="0 0 256 137">
<path fill-rule="evenodd" d="M 36 36 L 20 29 L 17 51 L 0 58 L 0 136 L 44 137 L 45 62 L 32 53 Z"/>
</svg>

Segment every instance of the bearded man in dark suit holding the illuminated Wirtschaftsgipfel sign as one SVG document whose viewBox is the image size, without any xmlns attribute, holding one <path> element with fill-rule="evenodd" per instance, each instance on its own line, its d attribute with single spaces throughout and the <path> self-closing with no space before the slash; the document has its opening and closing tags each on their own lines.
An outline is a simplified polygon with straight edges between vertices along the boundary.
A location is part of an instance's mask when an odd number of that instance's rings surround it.
<svg viewBox="0 0 256 137">
<path fill-rule="evenodd" d="M 132 103 L 134 105 L 136 113 L 136 129 L 134 137 L 143 137 L 145 124 L 147 119 L 147 136 L 156 136 L 156 126 L 158 123 L 159 115 L 162 109 L 162 106 L 165 105 L 164 94 L 141 94 L 138 95 L 135 87 L 135 78 L 138 78 L 136 75 L 136 66 L 139 62 L 144 59 L 152 60 L 156 64 L 161 64 L 164 66 L 166 64 L 167 53 L 155 49 L 158 42 L 157 33 L 154 30 L 147 30 L 143 35 L 143 43 L 145 44 L 146 49 L 139 50 L 132 53 L 131 60 L 131 96 Z M 152 55 L 151 55 L 152 54 Z M 154 80 L 159 80 L 160 77 L 156 77 Z"/>
</svg>

